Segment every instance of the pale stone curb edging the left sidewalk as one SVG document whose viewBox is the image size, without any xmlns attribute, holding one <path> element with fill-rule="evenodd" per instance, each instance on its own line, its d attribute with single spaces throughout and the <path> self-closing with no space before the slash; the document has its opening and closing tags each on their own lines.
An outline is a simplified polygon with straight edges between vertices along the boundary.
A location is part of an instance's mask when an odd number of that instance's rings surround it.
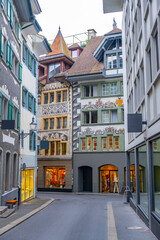
<svg viewBox="0 0 160 240">
<path fill-rule="evenodd" d="M 34 209 L 33 211 L 29 212 L 28 214 L 14 220 L 13 222 L 9 223 L 8 225 L 6 225 L 5 227 L 0 229 L 0 236 L 6 232 L 8 232 L 10 229 L 16 227 L 17 225 L 19 225 L 20 223 L 24 222 L 25 220 L 27 220 L 28 218 L 32 217 L 33 215 L 35 215 L 37 212 L 41 211 L 42 209 L 44 209 L 45 207 L 47 207 L 49 204 L 51 204 L 55 199 L 50 199 L 48 200 L 46 203 L 42 204 L 40 207 Z"/>
</svg>

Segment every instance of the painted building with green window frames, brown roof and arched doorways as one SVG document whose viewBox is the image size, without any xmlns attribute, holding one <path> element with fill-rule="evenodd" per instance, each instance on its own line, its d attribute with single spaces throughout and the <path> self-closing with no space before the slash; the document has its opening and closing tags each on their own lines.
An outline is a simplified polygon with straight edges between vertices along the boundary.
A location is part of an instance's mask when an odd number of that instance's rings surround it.
<svg viewBox="0 0 160 240">
<path fill-rule="evenodd" d="M 73 87 L 75 192 L 119 192 L 124 184 L 121 30 L 91 39 L 68 71 Z"/>
</svg>

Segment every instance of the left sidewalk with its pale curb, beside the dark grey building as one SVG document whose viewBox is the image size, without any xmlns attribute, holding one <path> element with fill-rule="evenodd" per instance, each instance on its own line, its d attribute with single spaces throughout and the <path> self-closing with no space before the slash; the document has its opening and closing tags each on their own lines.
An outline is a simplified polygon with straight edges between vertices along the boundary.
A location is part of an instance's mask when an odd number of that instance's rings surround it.
<svg viewBox="0 0 160 240">
<path fill-rule="evenodd" d="M 34 198 L 22 203 L 11 216 L 0 218 L 0 236 L 52 203 L 54 199 Z"/>
</svg>

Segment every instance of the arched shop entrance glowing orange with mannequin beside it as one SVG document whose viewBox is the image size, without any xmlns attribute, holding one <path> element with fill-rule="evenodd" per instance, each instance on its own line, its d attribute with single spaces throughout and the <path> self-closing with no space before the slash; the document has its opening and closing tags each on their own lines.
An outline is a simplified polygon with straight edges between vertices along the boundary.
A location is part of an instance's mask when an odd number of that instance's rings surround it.
<svg viewBox="0 0 160 240">
<path fill-rule="evenodd" d="M 105 165 L 100 168 L 100 192 L 118 192 L 118 168 Z"/>
</svg>

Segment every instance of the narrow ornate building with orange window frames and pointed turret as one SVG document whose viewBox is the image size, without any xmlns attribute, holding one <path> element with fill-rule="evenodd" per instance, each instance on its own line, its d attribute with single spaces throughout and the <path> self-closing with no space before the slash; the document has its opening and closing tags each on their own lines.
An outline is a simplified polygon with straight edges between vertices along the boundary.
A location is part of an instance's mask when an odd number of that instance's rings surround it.
<svg viewBox="0 0 160 240">
<path fill-rule="evenodd" d="M 49 149 L 38 151 L 38 188 L 71 191 L 72 88 L 65 72 L 74 61 L 60 29 L 51 49 L 39 62 L 38 144 L 49 141 Z"/>
</svg>

